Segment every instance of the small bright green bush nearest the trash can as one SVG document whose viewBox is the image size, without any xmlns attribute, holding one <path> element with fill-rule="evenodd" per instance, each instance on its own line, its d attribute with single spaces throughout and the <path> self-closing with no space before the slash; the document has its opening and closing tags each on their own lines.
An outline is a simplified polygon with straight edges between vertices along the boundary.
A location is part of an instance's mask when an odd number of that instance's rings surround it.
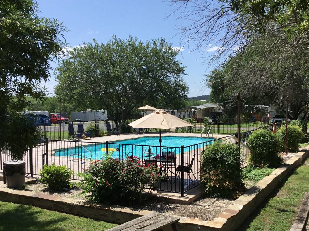
<svg viewBox="0 0 309 231">
<path fill-rule="evenodd" d="M 40 182 L 47 184 L 48 188 L 60 191 L 63 188 L 67 188 L 70 185 L 70 178 L 73 171 L 66 166 L 44 165 L 40 173 Z"/>
</svg>

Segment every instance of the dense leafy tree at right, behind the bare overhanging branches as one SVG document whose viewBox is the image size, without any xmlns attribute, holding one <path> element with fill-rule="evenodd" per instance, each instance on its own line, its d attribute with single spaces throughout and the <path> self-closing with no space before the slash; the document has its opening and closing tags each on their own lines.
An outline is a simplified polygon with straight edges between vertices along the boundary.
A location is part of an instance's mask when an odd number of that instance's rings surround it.
<svg viewBox="0 0 309 231">
<path fill-rule="evenodd" d="M 284 63 L 275 64 L 273 59 L 277 59 L 279 54 L 265 55 L 268 44 L 272 42 L 273 38 L 265 38 L 252 43 L 239 62 L 238 57 L 233 57 L 221 69 L 207 75 L 212 100 L 224 103 L 229 95 L 239 91 L 242 92 L 243 104 L 276 105 L 283 97 L 289 96 L 289 108 L 292 110 L 290 119 L 297 119 L 304 112 L 302 102 L 309 100 L 306 88 L 307 60 L 298 55 Z"/>
</svg>

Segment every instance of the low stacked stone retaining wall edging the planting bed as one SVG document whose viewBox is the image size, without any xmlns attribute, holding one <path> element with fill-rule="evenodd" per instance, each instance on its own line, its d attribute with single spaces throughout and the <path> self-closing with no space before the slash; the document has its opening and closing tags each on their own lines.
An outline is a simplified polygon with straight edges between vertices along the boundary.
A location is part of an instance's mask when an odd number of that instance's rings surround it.
<svg viewBox="0 0 309 231">
<path fill-rule="evenodd" d="M 176 223 L 177 230 L 199 231 L 233 231 L 256 209 L 257 206 L 280 184 L 280 182 L 309 156 L 309 146 L 265 176 L 246 193 L 235 200 L 213 221 L 201 221 L 181 217 Z M 15 190 L 0 184 L 0 200 L 18 204 L 33 205 L 76 216 L 88 217 L 95 220 L 122 224 L 135 218 L 152 213 L 148 210 L 134 210 L 123 206 L 89 203 L 84 200 L 60 197 L 44 193 L 34 193 L 26 190 Z M 170 231 L 169 227 L 164 227 Z"/>
</svg>

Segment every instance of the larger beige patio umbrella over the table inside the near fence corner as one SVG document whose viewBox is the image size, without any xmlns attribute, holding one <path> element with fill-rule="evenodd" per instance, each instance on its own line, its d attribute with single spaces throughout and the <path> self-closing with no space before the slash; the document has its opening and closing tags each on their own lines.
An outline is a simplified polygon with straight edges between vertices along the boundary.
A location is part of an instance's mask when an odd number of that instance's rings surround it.
<svg viewBox="0 0 309 231">
<path fill-rule="evenodd" d="M 153 113 L 146 115 L 134 122 L 128 124 L 132 128 L 157 128 L 160 133 L 160 146 L 161 146 L 161 129 L 170 129 L 178 127 L 191 127 L 194 126 L 187 121 L 184 121 L 174 115 L 168 114 L 163 109 L 156 109 Z"/>
</svg>

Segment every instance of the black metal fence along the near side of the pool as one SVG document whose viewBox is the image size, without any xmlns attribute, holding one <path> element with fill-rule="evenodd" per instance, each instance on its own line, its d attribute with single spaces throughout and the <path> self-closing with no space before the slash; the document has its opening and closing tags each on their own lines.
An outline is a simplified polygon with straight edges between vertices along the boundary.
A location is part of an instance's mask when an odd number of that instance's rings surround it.
<svg viewBox="0 0 309 231">
<path fill-rule="evenodd" d="M 280 124 L 276 124 L 279 128 Z M 264 126 L 273 130 L 274 125 Z M 241 133 L 241 142 L 247 144 L 251 131 Z M 238 145 L 237 135 L 226 136 L 218 141 Z M 105 158 L 106 153 L 113 158 L 125 159 L 128 156 L 140 158 L 144 164 L 154 161 L 163 172 L 166 180 L 159 183 L 159 190 L 181 193 L 183 196 L 188 190 L 198 186 L 201 178 L 201 154 L 207 145 L 214 140 L 190 146 L 163 147 L 153 145 L 121 144 L 119 142 L 105 143 L 91 142 L 91 140 L 49 140 L 36 148 L 30 148 L 24 157 L 26 161 L 26 173 L 34 176 L 39 175 L 44 164 L 66 165 L 74 174 L 74 180 L 82 180 L 76 173 L 83 172 L 91 163 L 91 160 Z M 249 157 L 249 150 L 241 145 L 241 162 Z M 3 170 L 3 162 L 10 160 L 8 151 L 0 150 L 0 169 Z M 183 171 L 181 171 L 183 170 Z"/>
</svg>

